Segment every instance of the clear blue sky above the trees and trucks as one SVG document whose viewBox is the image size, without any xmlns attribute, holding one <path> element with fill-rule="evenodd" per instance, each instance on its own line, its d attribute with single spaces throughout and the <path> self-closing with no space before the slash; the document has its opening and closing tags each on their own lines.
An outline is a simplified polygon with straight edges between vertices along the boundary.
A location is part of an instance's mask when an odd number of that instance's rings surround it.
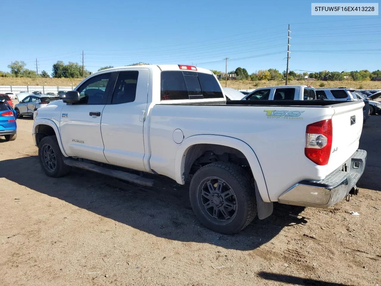
<svg viewBox="0 0 381 286">
<path fill-rule="evenodd" d="M 316 2 L 316 1 L 315 1 Z M 348 0 L 346 1 L 348 2 Z M 357 2 L 360 2 L 359 0 Z M 3 0 L 0 70 L 11 61 L 51 73 L 57 60 L 102 66 L 194 64 L 208 69 L 381 69 L 380 16 L 311 16 L 311 1 Z"/>
</svg>

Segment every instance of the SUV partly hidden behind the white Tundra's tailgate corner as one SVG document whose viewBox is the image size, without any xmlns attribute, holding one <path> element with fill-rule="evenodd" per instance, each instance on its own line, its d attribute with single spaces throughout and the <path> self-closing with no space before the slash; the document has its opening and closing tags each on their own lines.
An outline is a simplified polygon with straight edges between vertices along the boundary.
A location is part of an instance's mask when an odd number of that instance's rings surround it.
<svg viewBox="0 0 381 286">
<path fill-rule="evenodd" d="M 358 98 L 355 90 L 352 88 L 335 87 L 335 88 L 316 88 L 316 97 L 320 100 L 362 100 L 364 102 L 363 123 L 369 117 L 369 102 L 367 99 Z"/>
</svg>

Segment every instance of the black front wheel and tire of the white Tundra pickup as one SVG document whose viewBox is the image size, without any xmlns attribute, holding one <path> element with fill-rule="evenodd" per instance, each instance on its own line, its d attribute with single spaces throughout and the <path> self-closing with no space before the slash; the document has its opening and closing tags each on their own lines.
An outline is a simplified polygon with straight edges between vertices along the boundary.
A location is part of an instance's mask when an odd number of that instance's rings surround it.
<svg viewBox="0 0 381 286">
<path fill-rule="evenodd" d="M 69 172 L 69 166 L 62 159 L 56 136 L 42 138 L 38 144 L 38 159 L 42 170 L 49 177 L 58 178 Z"/>
</svg>

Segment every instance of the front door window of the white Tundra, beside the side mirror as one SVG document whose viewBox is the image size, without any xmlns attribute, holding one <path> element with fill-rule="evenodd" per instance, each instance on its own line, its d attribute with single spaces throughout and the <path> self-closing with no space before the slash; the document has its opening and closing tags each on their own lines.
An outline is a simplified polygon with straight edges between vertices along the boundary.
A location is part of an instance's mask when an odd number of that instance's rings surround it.
<svg viewBox="0 0 381 286">
<path fill-rule="evenodd" d="M 110 73 L 100 74 L 87 80 L 78 88 L 80 104 L 102 104 L 106 98 L 106 87 L 110 80 Z"/>
</svg>

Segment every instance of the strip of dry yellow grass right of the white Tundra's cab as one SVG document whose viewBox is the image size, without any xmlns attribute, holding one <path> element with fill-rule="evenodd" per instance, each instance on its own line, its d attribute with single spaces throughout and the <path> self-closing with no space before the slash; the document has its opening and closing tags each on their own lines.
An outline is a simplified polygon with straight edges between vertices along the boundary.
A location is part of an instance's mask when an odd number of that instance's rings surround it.
<svg viewBox="0 0 381 286">
<path fill-rule="evenodd" d="M 320 88 L 320 84 L 325 84 L 324 87 L 348 87 L 348 88 L 361 88 L 362 89 L 381 89 L 381 82 L 373 81 L 353 81 L 353 80 L 344 80 L 344 81 L 304 81 L 304 80 L 292 80 L 288 82 L 289 85 L 300 85 L 306 84 L 311 85 L 314 88 Z M 259 87 L 269 87 L 274 85 L 284 85 L 284 80 L 270 80 L 270 81 L 255 81 L 250 80 L 228 80 L 227 86 L 235 89 L 253 89 Z M 225 86 L 225 81 L 221 80 L 221 85 Z"/>
</svg>

